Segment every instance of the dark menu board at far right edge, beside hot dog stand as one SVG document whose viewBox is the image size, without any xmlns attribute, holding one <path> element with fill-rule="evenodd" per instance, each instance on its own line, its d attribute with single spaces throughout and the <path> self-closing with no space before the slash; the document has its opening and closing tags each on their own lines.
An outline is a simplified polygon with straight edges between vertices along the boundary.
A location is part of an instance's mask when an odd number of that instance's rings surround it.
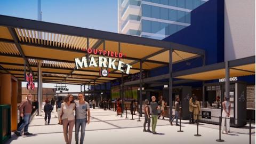
<svg viewBox="0 0 256 144">
<path fill-rule="evenodd" d="M 246 93 L 247 108 L 255 109 L 255 85 L 248 85 L 246 87 Z"/>
</svg>

